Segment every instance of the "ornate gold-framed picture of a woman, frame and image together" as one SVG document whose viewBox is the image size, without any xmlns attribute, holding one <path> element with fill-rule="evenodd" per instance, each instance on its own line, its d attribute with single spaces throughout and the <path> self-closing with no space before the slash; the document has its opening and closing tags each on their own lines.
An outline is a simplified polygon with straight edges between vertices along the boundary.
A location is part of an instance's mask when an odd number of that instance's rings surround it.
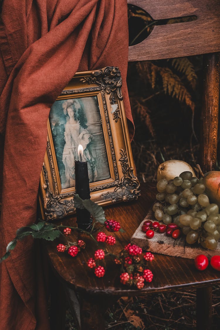
<svg viewBox="0 0 220 330">
<path fill-rule="evenodd" d="M 94 202 L 105 206 L 140 195 L 121 85 L 117 67 L 78 72 L 51 107 L 39 193 L 44 219 L 75 213 L 78 143 L 88 162 Z"/>
</svg>

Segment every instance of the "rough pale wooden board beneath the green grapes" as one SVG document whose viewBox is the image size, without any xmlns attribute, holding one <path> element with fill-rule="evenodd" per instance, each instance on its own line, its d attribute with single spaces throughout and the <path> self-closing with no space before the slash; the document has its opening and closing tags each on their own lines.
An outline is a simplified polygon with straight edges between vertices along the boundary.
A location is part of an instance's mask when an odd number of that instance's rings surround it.
<svg viewBox="0 0 220 330">
<path fill-rule="evenodd" d="M 145 220 L 157 221 L 154 217 L 153 211 L 149 211 L 144 220 L 141 222 L 138 229 L 135 231 L 131 238 L 132 244 L 137 244 L 143 250 L 171 255 L 174 257 L 182 257 L 188 259 L 194 259 L 198 254 L 204 254 L 209 259 L 213 255 L 220 255 L 220 242 L 216 250 L 207 250 L 200 244 L 187 244 L 185 235 L 174 240 L 172 237 L 166 236 L 166 233 L 160 234 L 155 232 L 154 237 L 148 239 L 146 234 L 142 232 L 141 227 Z"/>
</svg>

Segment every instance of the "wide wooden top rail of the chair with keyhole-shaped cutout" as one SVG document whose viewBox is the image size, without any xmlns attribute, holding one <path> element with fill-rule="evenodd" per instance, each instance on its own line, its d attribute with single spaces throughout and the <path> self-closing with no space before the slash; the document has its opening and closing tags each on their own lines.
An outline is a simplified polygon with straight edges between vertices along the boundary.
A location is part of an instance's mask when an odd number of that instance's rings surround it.
<svg viewBox="0 0 220 330">
<path fill-rule="evenodd" d="M 128 0 L 153 19 L 197 16 L 191 22 L 155 26 L 140 44 L 129 47 L 129 61 L 220 51 L 219 0 Z"/>
</svg>

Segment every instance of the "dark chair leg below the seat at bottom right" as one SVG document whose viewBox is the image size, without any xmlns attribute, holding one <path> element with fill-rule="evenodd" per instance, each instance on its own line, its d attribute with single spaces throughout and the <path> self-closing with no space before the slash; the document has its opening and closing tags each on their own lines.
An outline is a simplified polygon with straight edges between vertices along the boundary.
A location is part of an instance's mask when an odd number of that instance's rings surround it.
<svg viewBox="0 0 220 330">
<path fill-rule="evenodd" d="M 211 330 L 212 326 L 212 287 L 206 286 L 196 290 L 196 328 Z"/>
</svg>

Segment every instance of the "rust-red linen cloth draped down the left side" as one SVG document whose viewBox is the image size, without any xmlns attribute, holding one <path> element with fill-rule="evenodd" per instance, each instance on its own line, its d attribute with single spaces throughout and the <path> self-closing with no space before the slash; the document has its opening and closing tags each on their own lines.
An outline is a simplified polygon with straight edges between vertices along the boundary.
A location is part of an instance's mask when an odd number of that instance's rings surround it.
<svg viewBox="0 0 220 330">
<path fill-rule="evenodd" d="M 0 255 L 16 229 L 36 220 L 47 118 L 76 71 L 122 73 L 126 116 L 126 0 L 4 0 L 0 21 Z M 2 175 L 3 174 L 3 175 Z M 46 287 L 33 240 L 1 263 L 0 329 L 48 329 Z M 36 259 L 37 258 L 37 259 Z"/>
</svg>

